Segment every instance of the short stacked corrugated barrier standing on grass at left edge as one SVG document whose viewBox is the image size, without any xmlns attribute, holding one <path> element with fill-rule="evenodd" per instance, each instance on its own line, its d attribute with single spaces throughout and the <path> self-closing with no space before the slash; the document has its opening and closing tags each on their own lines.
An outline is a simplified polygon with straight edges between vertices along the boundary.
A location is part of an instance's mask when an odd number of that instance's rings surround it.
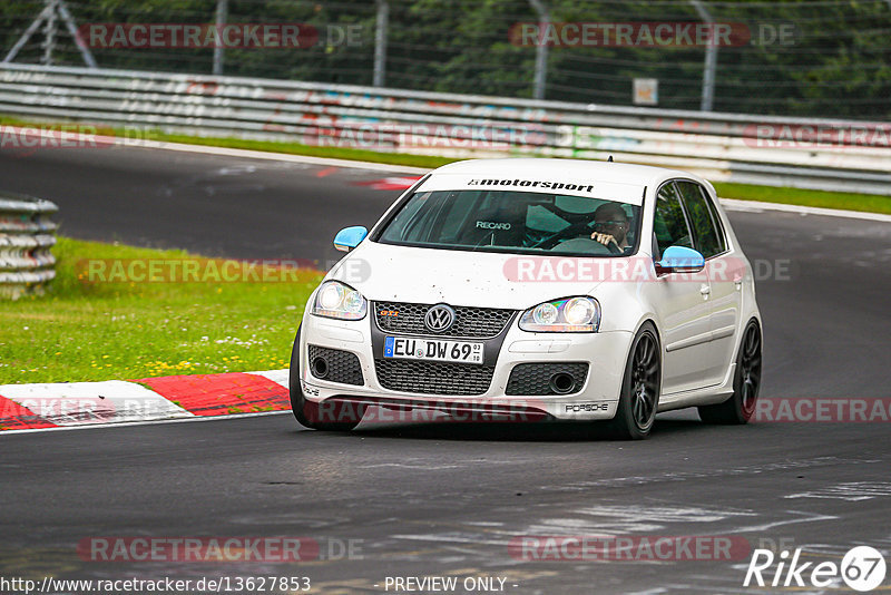
<svg viewBox="0 0 891 595">
<path fill-rule="evenodd" d="M 56 276 L 57 224 L 53 203 L 19 194 L 0 193 L 0 298 L 18 299 L 40 293 Z"/>
</svg>

